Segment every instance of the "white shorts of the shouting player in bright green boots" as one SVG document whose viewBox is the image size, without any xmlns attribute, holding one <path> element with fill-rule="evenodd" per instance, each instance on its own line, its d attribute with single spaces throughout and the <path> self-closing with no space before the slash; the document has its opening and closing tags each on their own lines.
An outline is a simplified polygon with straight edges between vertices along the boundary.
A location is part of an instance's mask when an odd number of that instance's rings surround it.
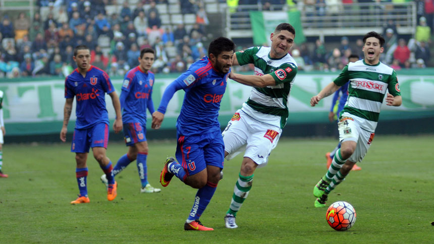
<svg viewBox="0 0 434 244">
<path fill-rule="evenodd" d="M 356 150 L 348 160 L 351 162 L 361 162 L 366 155 L 371 142 L 374 139 L 374 133 L 363 130 L 357 121 L 350 117 L 342 117 L 338 123 L 339 141 L 354 141 L 357 143 Z"/>
</svg>

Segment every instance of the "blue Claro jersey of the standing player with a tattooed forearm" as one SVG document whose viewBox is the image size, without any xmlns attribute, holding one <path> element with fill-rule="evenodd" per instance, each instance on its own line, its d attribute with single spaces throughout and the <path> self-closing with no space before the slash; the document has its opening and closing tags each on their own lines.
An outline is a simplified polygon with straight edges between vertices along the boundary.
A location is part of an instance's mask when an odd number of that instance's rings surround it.
<svg viewBox="0 0 434 244">
<path fill-rule="evenodd" d="M 105 107 L 105 93 L 115 91 L 107 73 L 91 66 L 83 77 L 75 69 L 65 79 L 65 98 L 76 97 L 75 121 L 76 129 L 85 129 L 98 123 L 108 123 L 108 112 Z"/>
</svg>

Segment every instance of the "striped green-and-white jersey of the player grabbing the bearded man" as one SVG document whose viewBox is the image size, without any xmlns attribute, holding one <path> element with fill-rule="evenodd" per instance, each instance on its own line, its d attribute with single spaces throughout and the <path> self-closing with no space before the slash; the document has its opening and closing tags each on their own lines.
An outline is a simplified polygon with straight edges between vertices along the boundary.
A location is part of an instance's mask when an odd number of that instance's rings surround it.
<svg viewBox="0 0 434 244">
<path fill-rule="evenodd" d="M 272 58 L 270 50 L 271 47 L 250 47 L 236 53 L 239 65 L 253 64 L 255 75 L 269 74 L 276 81 L 275 86 L 253 87 L 242 110 L 256 120 L 283 129 L 289 115 L 289 92 L 298 69 L 290 54 Z"/>
</svg>

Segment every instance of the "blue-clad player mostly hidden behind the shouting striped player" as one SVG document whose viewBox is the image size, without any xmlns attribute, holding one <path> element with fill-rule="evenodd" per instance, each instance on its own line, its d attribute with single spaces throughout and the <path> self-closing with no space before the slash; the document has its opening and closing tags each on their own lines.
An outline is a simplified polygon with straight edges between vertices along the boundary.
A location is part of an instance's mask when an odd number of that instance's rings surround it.
<svg viewBox="0 0 434 244">
<path fill-rule="evenodd" d="M 359 55 L 357 54 L 351 54 L 348 57 L 348 62 L 356 62 L 357 60 L 359 60 Z M 348 98 L 348 84 L 349 83 L 345 83 L 345 85 L 341 86 L 336 92 L 335 95 L 333 96 L 333 101 L 332 101 L 332 107 L 330 108 L 330 112 L 329 112 L 329 120 L 330 122 L 336 122 L 338 120 L 339 122 L 339 114 L 341 113 L 342 109 L 345 106 L 345 103 L 347 102 L 347 98 Z M 339 98 L 339 102 L 338 102 L 338 98 Z M 335 153 L 339 150 L 339 148 L 341 148 L 341 142 L 338 143 L 338 146 L 335 147 L 335 149 L 332 152 L 328 152 L 325 154 L 325 158 L 327 158 L 327 168 L 330 167 L 330 165 L 332 164 L 333 161 L 333 157 L 335 157 Z M 357 164 L 354 164 L 353 168 L 351 170 L 355 171 L 355 170 L 361 170 L 362 168 L 360 166 L 358 166 Z"/>
</svg>

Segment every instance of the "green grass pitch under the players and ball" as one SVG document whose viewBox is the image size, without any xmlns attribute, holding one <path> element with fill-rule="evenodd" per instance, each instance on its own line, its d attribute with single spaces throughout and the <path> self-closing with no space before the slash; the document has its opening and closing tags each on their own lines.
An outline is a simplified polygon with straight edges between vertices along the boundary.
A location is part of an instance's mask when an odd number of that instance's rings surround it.
<svg viewBox="0 0 434 244">
<path fill-rule="evenodd" d="M 69 138 L 71 139 L 71 138 Z M 313 186 L 325 173 L 325 152 L 336 139 L 282 139 L 268 165 L 255 172 L 253 188 L 226 229 L 241 156 L 225 162 L 201 217 L 214 231 L 184 231 L 196 190 L 174 178 L 156 194 L 140 194 L 135 162 L 117 176 L 118 197 L 106 200 L 102 170 L 88 158 L 89 204 L 70 205 L 78 194 L 75 159 L 65 144 L 5 144 L 0 178 L 0 243 L 432 243 L 434 240 L 434 136 L 377 135 L 359 165 L 329 196 L 351 203 L 355 225 L 338 232 L 314 208 Z M 149 142 L 148 179 L 158 187 L 175 141 Z M 127 148 L 109 143 L 114 163 Z"/>
</svg>

